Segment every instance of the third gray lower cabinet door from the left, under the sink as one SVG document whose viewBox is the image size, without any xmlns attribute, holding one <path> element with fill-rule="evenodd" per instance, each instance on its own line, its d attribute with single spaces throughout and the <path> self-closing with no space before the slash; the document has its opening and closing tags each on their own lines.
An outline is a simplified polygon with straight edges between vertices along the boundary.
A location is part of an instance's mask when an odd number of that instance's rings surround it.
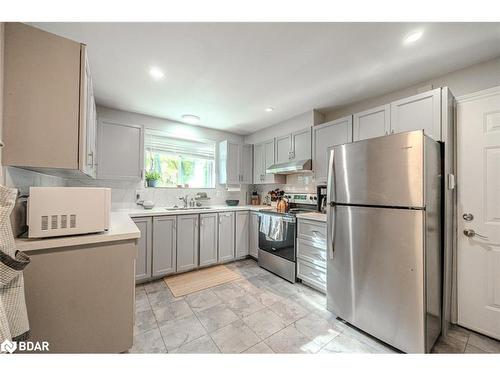
<svg viewBox="0 0 500 375">
<path fill-rule="evenodd" d="M 177 216 L 177 272 L 198 267 L 198 215 Z"/>
</svg>

